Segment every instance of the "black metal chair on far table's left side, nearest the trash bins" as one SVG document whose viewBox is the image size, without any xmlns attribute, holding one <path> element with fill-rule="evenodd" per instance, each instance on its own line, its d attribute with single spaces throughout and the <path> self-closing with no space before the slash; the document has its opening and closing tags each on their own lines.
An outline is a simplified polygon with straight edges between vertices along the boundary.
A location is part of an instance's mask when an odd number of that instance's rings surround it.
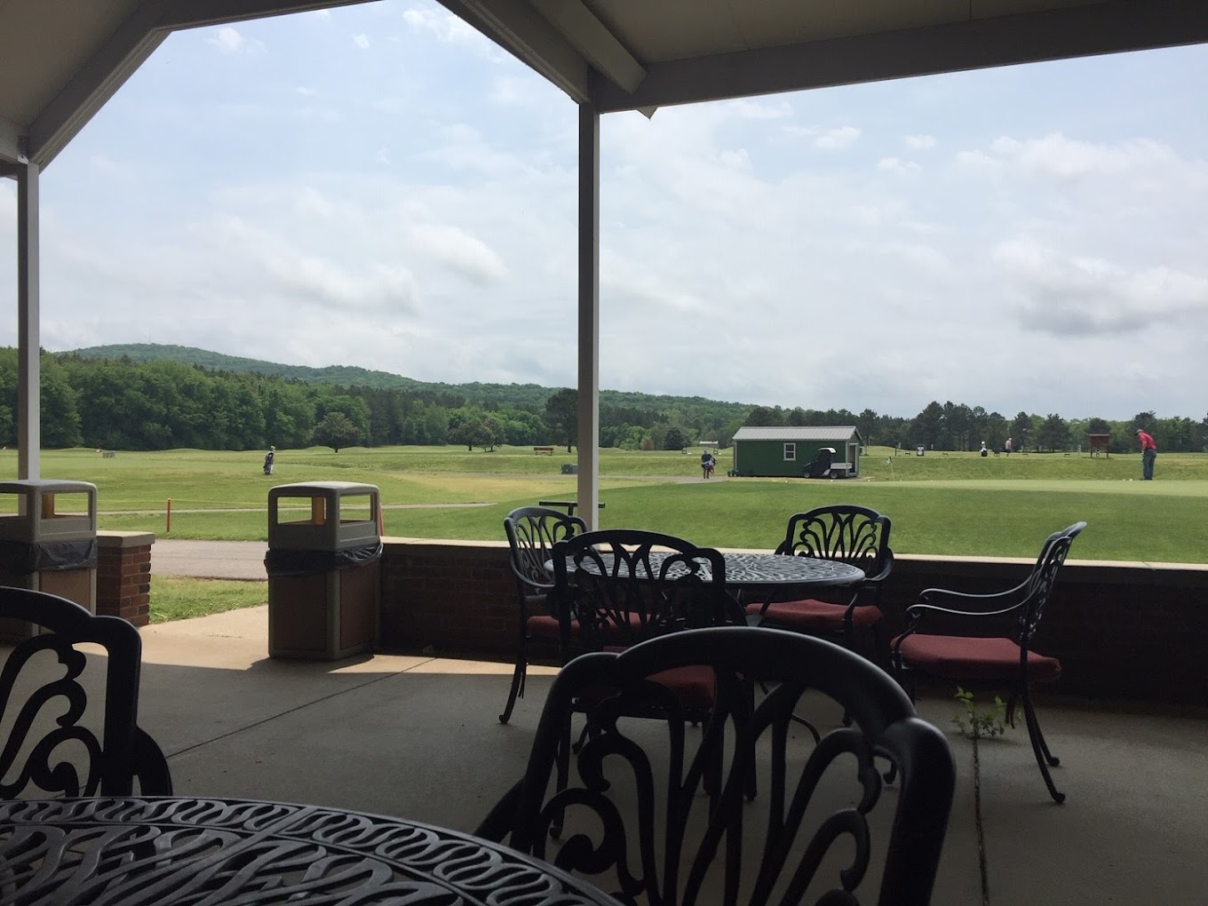
<svg viewBox="0 0 1208 906">
<path fill-rule="evenodd" d="M 587 523 L 577 516 L 548 506 L 522 506 L 504 517 L 507 563 L 516 576 L 519 633 L 512 685 L 507 691 L 507 704 L 499 715 L 501 724 L 511 719 L 516 699 L 524 697 L 529 646 L 540 643 L 553 645 L 561 638 L 558 616 L 548 609 L 548 596 L 553 591 L 553 546 L 586 529 Z"/>
</svg>

